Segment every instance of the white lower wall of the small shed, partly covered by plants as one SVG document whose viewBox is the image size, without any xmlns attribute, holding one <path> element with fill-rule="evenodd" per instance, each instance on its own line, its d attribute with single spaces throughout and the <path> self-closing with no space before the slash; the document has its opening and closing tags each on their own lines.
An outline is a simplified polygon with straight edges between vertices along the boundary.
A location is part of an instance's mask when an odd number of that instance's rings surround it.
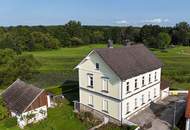
<svg viewBox="0 0 190 130">
<path fill-rule="evenodd" d="M 41 113 L 42 111 L 44 112 L 43 114 Z M 30 114 L 35 114 L 35 116 L 32 119 L 28 120 L 27 115 L 30 115 Z M 19 127 L 24 128 L 27 124 L 36 123 L 36 122 L 46 118 L 47 117 L 47 106 L 39 107 L 35 110 L 31 110 L 31 111 L 22 113 L 21 115 L 11 112 L 11 115 L 13 117 L 17 118 L 17 123 L 18 123 Z"/>
</svg>

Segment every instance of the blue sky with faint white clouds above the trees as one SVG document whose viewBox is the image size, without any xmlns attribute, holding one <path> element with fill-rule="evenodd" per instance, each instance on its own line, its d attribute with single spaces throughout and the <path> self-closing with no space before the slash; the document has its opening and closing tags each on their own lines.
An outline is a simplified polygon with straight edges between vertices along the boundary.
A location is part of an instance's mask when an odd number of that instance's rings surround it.
<svg viewBox="0 0 190 130">
<path fill-rule="evenodd" d="M 190 23 L 190 0 L 0 0 L 0 26 L 174 26 Z"/>
</svg>

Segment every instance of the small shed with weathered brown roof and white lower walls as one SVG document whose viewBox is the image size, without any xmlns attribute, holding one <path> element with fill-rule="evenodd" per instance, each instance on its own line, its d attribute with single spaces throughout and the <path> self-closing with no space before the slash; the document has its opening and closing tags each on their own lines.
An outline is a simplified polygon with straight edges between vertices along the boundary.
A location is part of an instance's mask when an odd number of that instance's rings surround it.
<svg viewBox="0 0 190 130">
<path fill-rule="evenodd" d="M 50 98 L 44 89 L 18 79 L 3 92 L 2 97 L 20 128 L 47 117 Z"/>
</svg>

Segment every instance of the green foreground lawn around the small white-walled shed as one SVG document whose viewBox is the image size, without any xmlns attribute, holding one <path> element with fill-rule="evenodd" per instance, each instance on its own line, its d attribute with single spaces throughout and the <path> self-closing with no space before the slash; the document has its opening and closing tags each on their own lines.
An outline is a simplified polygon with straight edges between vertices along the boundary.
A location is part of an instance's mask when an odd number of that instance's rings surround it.
<svg viewBox="0 0 190 130">
<path fill-rule="evenodd" d="M 8 124 L 8 119 L 0 121 L 0 130 L 20 130 Z M 81 123 L 74 113 L 70 102 L 65 100 L 62 106 L 48 110 L 48 118 L 44 121 L 27 126 L 24 130 L 86 130 L 88 126 Z"/>
</svg>

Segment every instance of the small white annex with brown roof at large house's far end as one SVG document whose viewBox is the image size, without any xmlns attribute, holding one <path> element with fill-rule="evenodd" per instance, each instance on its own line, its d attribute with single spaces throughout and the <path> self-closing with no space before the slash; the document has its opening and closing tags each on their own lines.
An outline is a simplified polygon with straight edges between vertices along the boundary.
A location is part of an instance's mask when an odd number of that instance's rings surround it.
<svg viewBox="0 0 190 130">
<path fill-rule="evenodd" d="M 167 96 L 169 96 L 169 82 L 166 80 L 161 80 L 160 90 L 161 99 L 164 99 Z"/>
</svg>

